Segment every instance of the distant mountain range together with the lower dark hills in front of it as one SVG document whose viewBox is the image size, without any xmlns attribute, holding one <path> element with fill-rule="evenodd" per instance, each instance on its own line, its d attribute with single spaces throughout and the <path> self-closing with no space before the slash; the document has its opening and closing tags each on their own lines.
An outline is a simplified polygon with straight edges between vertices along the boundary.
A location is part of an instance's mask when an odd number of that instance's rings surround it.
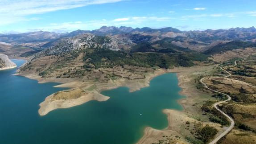
<svg viewBox="0 0 256 144">
<path fill-rule="evenodd" d="M 155 52 L 162 48 L 172 50 L 204 52 L 207 54 L 218 53 L 219 47 L 226 50 L 232 47 L 233 43 L 242 43 L 238 48 L 245 45 L 254 45 L 256 42 L 256 29 L 250 28 L 231 28 L 231 29 L 207 29 L 204 31 L 181 31 L 172 27 L 151 29 L 148 27 L 115 27 L 103 26 L 100 29 L 76 30 L 70 33 L 54 32 L 30 32 L 18 34 L 0 34 L 0 53 L 10 57 L 27 57 L 38 53 L 45 48 L 54 47 L 62 42 L 83 34 L 95 36 L 109 36 L 111 39 L 123 42 L 128 45 L 121 45 L 121 49 L 133 47 L 133 52 Z M 235 42 L 232 42 L 235 41 Z M 244 45 L 244 42 L 248 43 Z M 142 48 L 141 48 L 142 47 Z M 215 48 L 217 47 L 218 50 Z M 212 50 L 215 49 L 215 50 Z M 170 49 L 169 49 L 170 51 Z"/>
</svg>

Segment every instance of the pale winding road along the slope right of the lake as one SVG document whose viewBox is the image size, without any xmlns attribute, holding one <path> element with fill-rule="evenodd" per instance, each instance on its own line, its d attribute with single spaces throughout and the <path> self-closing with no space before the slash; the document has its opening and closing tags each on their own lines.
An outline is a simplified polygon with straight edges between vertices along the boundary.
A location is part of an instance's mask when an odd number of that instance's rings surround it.
<svg viewBox="0 0 256 144">
<path fill-rule="evenodd" d="M 234 65 L 234 66 L 236 66 L 236 61 L 235 61 L 235 65 Z M 224 69 L 221 67 L 221 70 L 224 70 Z M 227 76 L 224 76 L 224 77 L 229 77 L 229 76 L 231 76 L 231 74 L 230 74 L 227 70 L 224 70 L 224 71 L 227 72 L 227 74 L 228 74 Z M 205 78 L 206 78 L 206 77 L 205 77 Z M 200 82 L 204 85 L 204 87 L 205 87 L 206 89 L 211 90 L 211 91 L 214 91 L 214 92 L 219 93 L 219 94 L 222 94 L 222 95 L 226 95 L 227 98 L 228 98 L 227 100 L 214 103 L 214 107 L 215 107 L 218 111 L 220 111 L 223 115 L 225 115 L 225 116 L 231 121 L 231 125 L 230 125 L 222 134 L 220 134 L 218 137 L 216 137 L 215 140 L 212 140 L 211 143 L 209 143 L 209 144 L 215 144 L 215 143 L 217 143 L 217 141 L 218 141 L 219 139 L 221 139 L 221 138 L 222 138 L 223 136 L 225 136 L 229 131 L 231 131 L 231 129 L 232 129 L 232 128 L 234 127 L 234 125 L 235 125 L 235 122 L 234 122 L 234 120 L 233 120 L 229 115 L 225 114 L 223 111 L 221 111 L 221 110 L 217 107 L 219 104 L 225 103 L 225 102 L 231 100 L 231 97 L 230 97 L 229 95 L 227 95 L 227 94 L 222 93 L 222 92 L 219 92 L 219 91 L 215 91 L 215 90 L 210 89 L 210 88 L 203 82 L 203 80 L 204 80 L 205 78 L 200 79 Z"/>
</svg>

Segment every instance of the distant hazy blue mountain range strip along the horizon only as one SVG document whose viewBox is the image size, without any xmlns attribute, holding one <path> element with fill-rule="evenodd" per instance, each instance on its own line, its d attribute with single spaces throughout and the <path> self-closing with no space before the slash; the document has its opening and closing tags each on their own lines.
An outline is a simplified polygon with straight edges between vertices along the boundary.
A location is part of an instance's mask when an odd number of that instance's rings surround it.
<svg viewBox="0 0 256 144">
<path fill-rule="evenodd" d="M 132 42 L 156 41 L 165 37 L 176 38 L 180 41 L 199 41 L 203 43 L 212 43 L 214 41 L 256 41 L 256 29 L 250 28 L 231 28 L 231 29 L 207 29 L 204 31 L 180 31 L 172 27 L 162 29 L 151 29 L 148 27 L 136 28 L 121 26 L 103 26 L 96 30 L 76 30 L 70 33 L 54 32 L 30 32 L 18 34 L 0 34 L 0 41 L 12 45 L 24 45 L 28 47 L 49 47 L 54 44 L 65 41 L 69 37 L 74 37 L 83 33 L 91 33 L 99 36 L 115 36 L 122 39 L 131 39 Z"/>
</svg>

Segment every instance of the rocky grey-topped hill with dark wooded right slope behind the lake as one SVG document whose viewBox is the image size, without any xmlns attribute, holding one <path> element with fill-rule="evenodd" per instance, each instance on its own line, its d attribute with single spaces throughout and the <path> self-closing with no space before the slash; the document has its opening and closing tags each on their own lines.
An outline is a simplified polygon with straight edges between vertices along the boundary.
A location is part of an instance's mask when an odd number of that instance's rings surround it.
<svg viewBox="0 0 256 144">
<path fill-rule="evenodd" d="M 107 82 L 116 76 L 144 78 L 129 67 L 152 71 L 156 67 L 194 66 L 194 61 L 207 61 L 207 55 L 185 48 L 154 45 L 134 45 L 115 37 L 86 33 L 33 54 L 19 74 L 37 74 L 43 78 L 98 78 Z M 124 67 L 129 71 L 121 72 Z"/>
</svg>

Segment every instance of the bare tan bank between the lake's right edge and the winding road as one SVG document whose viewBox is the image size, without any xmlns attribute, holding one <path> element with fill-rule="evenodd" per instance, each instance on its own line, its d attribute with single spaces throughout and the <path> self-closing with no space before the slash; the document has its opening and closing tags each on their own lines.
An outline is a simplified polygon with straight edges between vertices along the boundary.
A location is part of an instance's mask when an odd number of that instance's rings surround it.
<svg viewBox="0 0 256 144">
<path fill-rule="evenodd" d="M 208 66 L 200 66 L 201 68 L 204 67 L 207 69 Z M 211 67 L 211 66 L 210 66 Z M 151 143 L 157 143 L 158 140 L 163 140 L 167 136 L 177 136 L 172 137 L 172 141 L 174 144 L 188 144 L 188 142 L 185 140 L 185 136 L 190 135 L 190 131 L 186 131 L 187 125 L 185 124 L 185 121 L 190 122 L 190 126 L 193 125 L 192 123 L 202 123 L 203 125 L 209 124 L 219 130 L 218 134 L 222 133 L 225 128 L 221 128 L 221 125 L 218 123 L 211 123 L 207 121 L 200 121 L 198 119 L 201 119 L 203 116 L 200 112 L 195 111 L 195 107 L 193 107 L 193 104 L 195 102 L 198 102 L 198 98 L 205 99 L 204 97 L 200 98 L 198 94 L 205 95 L 204 92 L 198 91 L 196 87 L 194 87 L 191 82 L 194 81 L 194 78 L 192 78 L 192 75 L 198 75 L 198 66 L 190 67 L 190 68 L 174 68 L 170 70 L 172 73 L 177 74 L 178 78 L 178 86 L 181 88 L 181 91 L 179 91 L 180 95 L 185 96 L 185 98 L 181 98 L 177 100 L 177 103 L 180 104 L 183 108 L 183 110 L 173 110 L 173 109 L 164 109 L 162 112 L 167 116 L 168 120 L 168 126 L 165 129 L 154 129 L 151 127 L 146 127 L 144 129 L 144 134 L 136 142 L 136 144 L 151 144 Z M 190 70 L 192 72 L 190 72 Z M 208 70 L 210 70 L 208 68 Z M 201 72 L 204 72 L 201 70 Z M 195 73 L 195 74 L 194 74 Z M 209 98 L 208 98 L 209 99 Z"/>
</svg>

